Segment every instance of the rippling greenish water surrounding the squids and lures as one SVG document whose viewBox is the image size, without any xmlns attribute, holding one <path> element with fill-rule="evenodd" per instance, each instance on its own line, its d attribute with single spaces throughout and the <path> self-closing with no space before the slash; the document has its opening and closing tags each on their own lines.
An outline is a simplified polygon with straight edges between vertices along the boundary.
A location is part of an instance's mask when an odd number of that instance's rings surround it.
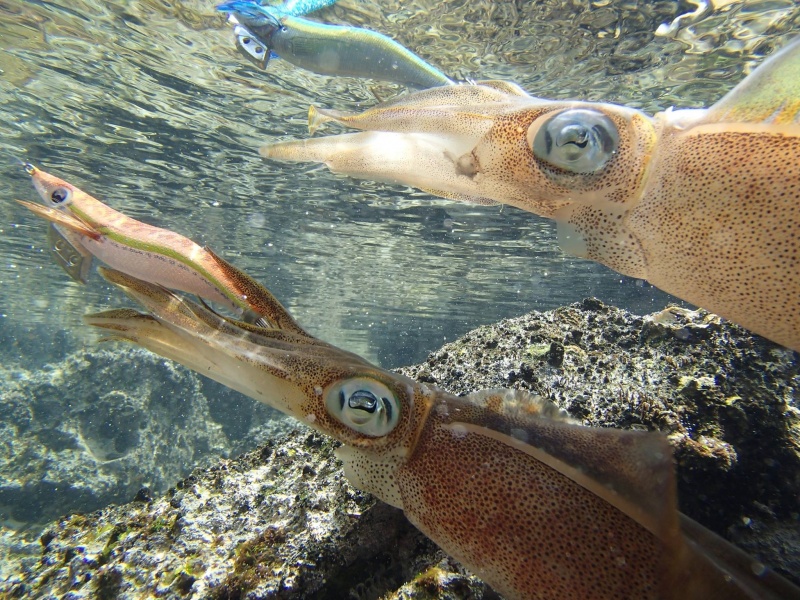
<svg viewBox="0 0 800 600">
<path fill-rule="evenodd" d="M 648 111 L 704 106 L 797 30 L 791 1 L 350 2 L 314 18 L 367 25 L 452 77 Z M 314 75 L 235 51 L 214 3 L 0 1 L 0 177 L 35 194 L 29 160 L 133 217 L 208 244 L 266 283 L 310 331 L 387 366 L 479 324 L 594 295 L 634 311 L 671 299 L 571 258 L 551 223 L 324 169 L 266 163 L 259 143 L 306 135 L 310 103 L 356 109 L 399 86 Z M 91 344 L 88 310 L 120 296 L 68 280 L 45 226 L 0 204 L 0 347 L 28 366 Z"/>
</svg>

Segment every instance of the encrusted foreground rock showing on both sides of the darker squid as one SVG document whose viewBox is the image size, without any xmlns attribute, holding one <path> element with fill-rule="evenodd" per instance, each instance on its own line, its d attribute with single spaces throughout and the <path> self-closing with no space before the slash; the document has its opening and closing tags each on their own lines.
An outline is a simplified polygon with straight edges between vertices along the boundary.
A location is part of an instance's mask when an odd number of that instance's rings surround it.
<svg viewBox="0 0 800 600">
<path fill-rule="evenodd" d="M 455 393 L 531 390 L 589 425 L 662 431 L 682 510 L 798 581 L 797 355 L 704 311 L 667 311 L 589 299 L 478 328 L 401 370 Z M 163 496 L 73 514 L 38 541 L 6 532 L 0 594 L 498 598 L 350 486 L 334 447 L 298 426 Z"/>
</svg>

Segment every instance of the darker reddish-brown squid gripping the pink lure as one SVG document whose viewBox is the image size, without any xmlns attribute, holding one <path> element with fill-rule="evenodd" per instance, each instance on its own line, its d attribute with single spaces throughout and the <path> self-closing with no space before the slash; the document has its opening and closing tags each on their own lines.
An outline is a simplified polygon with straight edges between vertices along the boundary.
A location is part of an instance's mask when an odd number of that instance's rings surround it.
<svg viewBox="0 0 800 600">
<path fill-rule="evenodd" d="M 511 390 L 456 397 L 318 340 L 206 249 L 230 295 L 272 307 L 236 321 L 113 269 L 144 307 L 87 315 L 133 342 L 342 443 L 347 478 L 508 600 L 800 598 L 800 590 L 676 507 L 664 436 L 581 426 Z"/>
</svg>

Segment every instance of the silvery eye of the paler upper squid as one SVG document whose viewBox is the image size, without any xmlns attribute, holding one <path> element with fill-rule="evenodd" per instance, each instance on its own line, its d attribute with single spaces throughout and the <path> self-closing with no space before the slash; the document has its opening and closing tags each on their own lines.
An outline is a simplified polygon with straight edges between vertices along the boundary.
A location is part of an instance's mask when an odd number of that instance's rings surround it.
<svg viewBox="0 0 800 600">
<path fill-rule="evenodd" d="M 619 147 L 619 132 L 603 113 L 574 108 L 544 123 L 533 138 L 533 154 L 573 173 L 599 171 Z"/>
</svg>

